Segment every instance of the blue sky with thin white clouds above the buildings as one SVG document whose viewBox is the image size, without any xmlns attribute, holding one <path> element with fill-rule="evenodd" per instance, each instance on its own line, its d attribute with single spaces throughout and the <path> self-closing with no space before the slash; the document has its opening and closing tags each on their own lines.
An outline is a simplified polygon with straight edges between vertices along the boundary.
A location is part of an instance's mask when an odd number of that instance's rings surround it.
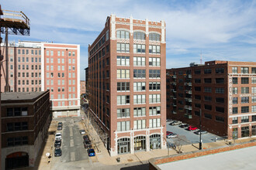
<svg viewBox="0 0 256 170">
<path fill-rule="evenodd" d="M 30 36 L 20 40 L 80 44 L 81 80 L 88 44 L 107 16 L 166 22 L 166 68 L 210 60 L 256 62 L 256 0 L 2 0 L 2 9 L 22 11 Z"/>
</svg>

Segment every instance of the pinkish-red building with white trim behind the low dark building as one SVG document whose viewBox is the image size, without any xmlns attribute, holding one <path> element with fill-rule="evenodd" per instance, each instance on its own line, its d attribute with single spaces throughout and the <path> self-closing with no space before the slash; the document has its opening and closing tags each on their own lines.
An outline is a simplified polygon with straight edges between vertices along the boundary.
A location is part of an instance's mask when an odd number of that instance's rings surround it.
<svg viewBox="0 0 256 170">
<path fill-rule="evenodd" d="M 2 49 L 4 45 L 2 44 Z M 5 53 L 4 53 L 5 56 Z M 1 91 L 5 91 L 5 60 Z M 50 90 L 54 117 L 80 115 L 80 46 L 48 42 L 9 43 L 11 92 Z"/>
</svg>

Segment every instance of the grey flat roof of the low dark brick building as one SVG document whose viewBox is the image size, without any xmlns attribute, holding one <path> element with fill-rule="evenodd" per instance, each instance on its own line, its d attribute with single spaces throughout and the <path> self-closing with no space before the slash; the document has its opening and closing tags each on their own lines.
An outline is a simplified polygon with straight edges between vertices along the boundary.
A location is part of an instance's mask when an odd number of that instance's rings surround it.
<svg viewBox="0 0 256 170">
<path fill-rule="evenodd" d="M 32 100 L 45 93 L 45 91 L 36 92 L 4 92 L 1 93 L 1 100 Z"/>
</svg>

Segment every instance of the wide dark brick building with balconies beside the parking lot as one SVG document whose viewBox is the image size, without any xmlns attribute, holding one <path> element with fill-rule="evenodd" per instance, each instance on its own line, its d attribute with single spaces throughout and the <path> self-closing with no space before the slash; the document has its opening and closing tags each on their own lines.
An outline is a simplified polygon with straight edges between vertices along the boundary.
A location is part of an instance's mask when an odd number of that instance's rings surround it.
<svg viewBox="0 0 256 170">
<path fill-rule="evenodd" d="M 256 63 L 209 61 L 167 70 L 167 117 L 220 136 L 256 135 Z"/>
</svg>

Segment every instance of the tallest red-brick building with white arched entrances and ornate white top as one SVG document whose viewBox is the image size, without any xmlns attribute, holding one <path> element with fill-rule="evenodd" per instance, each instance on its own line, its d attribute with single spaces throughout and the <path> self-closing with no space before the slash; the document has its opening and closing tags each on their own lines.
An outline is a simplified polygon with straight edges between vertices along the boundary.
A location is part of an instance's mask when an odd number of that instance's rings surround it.
<svg viewBox="0 0 256 170">
<path fill-rule="evenodd" d="M 164 21 L 116 15 L 88 46 L 88 115 L 111 156 L 166 148 L 165 50 Z"/>
</svg>

